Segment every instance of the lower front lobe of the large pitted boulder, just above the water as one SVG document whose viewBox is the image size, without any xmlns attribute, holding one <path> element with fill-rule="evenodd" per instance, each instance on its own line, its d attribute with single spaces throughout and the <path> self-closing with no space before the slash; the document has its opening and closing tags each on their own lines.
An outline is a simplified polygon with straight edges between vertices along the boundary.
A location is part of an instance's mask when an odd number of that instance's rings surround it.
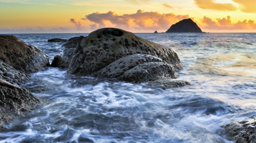
<svg viewBox="0 0 256 143">
<path fill-rule="evenodd" d="M 143 83 L 155 81 L 161 78 L 176 79 L 176 68 L 171 64 L 162 62 L 143 63 L 123 73 L 122 76 L 118 77 L 118 80 L 128 81 L 131 83 Z"/>
</svg>

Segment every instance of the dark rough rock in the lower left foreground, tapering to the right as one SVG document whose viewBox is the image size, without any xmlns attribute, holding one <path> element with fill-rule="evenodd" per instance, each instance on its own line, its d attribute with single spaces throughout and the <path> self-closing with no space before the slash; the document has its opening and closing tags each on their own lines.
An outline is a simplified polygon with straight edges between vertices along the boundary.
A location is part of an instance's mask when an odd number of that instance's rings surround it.
<svg viewBox="0 0 256 143">
<path fill-rule="evenodd" d="M 9 88 L 0 85 L 0 131 L 11 119 L 30 112 L 47 103 L 45 98 L 37 98 L 24 88 Z"/>
</svg>

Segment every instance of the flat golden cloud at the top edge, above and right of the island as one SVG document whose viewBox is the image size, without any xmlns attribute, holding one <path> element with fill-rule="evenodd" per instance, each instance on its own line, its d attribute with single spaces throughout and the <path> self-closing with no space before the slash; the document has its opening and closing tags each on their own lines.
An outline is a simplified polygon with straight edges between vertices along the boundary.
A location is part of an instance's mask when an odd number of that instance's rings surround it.
<svg viewBox="0 0 256 143">
<path fill-rule="evenodd" d="M 241 1 L 241 0 L 234 0 Z M 242 0 L 247 1 L 247 0 Z M 249 0 L 250 1 L 250 0 Z M 220 11 L 236 11 L 237 7 L 231 3 L 215 3 L 214 0 L 194 0 L 194 3 L 203 9 L 220 10 Z"/>
</svg>

